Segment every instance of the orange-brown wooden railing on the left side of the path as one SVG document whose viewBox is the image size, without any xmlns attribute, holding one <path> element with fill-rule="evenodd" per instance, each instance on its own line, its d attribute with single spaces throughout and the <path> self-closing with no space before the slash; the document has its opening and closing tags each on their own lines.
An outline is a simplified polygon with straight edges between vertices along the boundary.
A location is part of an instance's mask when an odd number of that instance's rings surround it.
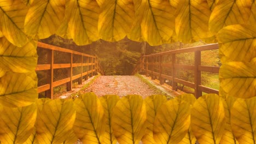
<svg viewBox="0 0 256 144">
<path fill-rule="evenodd" d="M 47 52 L 48 62 L 46 62 L 47 64 L 38 64 L 36 67 L 36 71 L 47 70 L 47 73 L 48 73 L 46 77 L 46 80 L 48 81 L 47 84 L 38 86 L 38 93 L 45 92 L 45 97 L 47 98 L 53 98 L 54 87 L 67 83 L 67 91 L 71 91 L 73 80 L 79 79 L 78 83 L 82 84 L 83 79 L 88 79 L 89 75 L 97 75 L 97 73 L 104 75 L 102 67 L 100 63 L 98 63 L 97 56 L 87 55 L 85 53 L 64 49 L 62 47 L 44 44 L 40 42 L 38 42 L 37 47 L 38 49 L 46 49 L 48 51 Z M 54 63 L 55 51 L 69 53 L 70 63 L 61 63 L 61 64 Z M 80 63 L 73 63 L 73 57 L 80 57 Z M 57 57 L 57 58 L 60 59 L 61 57 Z M 73 75 L 74 67 L 80 67 L 80 74 Z M 87 71 L 85 72 L 83 72 L 84 67 L 87 67 L 86 68 Z M 54 81 L 54 69 L 63 69 L 63 68 L 68 68 L 68 77 L 62 80 Z"/>
</svg>

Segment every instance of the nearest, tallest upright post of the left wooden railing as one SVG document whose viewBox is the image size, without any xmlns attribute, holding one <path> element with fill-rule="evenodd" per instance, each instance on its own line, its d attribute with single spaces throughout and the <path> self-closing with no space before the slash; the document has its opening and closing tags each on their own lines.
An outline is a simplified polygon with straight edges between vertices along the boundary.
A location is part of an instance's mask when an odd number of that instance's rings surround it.
<svg viewBox="0 0 256 144">
<path fill-rule="evenodd" d="M 45 97 L 53 99 L 53 79 L 54 79 L 54 50 L 49 50 L 48 52 L 48 62 L 50 63 L 50 70 L 48 70 L 47 80 L 50 84 L 50 89 L 45 91 Z"/>
</svg>

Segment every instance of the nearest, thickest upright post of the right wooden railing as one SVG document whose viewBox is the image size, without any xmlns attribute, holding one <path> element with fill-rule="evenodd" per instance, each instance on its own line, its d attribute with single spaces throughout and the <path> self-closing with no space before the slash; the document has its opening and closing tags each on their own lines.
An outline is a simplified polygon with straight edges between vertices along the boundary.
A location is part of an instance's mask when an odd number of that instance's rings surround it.
<svg viewBox="0 0 256 144">
<path fill-rule="evenodd" d="M 201 51 L 195 51 L 195 97 L 199 98 L 202 96 L 202 92 L 199 90 L 199 85 L 201 85 L 201 71 L 198 70 L 199 65 L 201 65 Z"/>
</svg>

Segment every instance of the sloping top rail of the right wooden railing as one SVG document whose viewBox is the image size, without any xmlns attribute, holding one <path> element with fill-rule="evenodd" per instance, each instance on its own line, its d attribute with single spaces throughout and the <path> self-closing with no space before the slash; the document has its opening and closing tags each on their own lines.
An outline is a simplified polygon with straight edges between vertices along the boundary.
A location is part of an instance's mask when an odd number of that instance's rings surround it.
<svg viewBox="0 0 256 144">
<path fill-rule="evenodd" d="M 172 50 L 166 52 L 159 52 L 152 55 L 146 55 L 144 57 L 153 57 L 153 56 L 164 56 L 164 55 L 172 55 L 173 53 L 184 53 L 184 52 L 195 52 L 195 51 L 206 51 L 206 50 L 216 50 L 219 49 L 219 44 L 208 44 L 208 45 L 201 45 L 195 47 L 189 47 L 185 49 L 179 50 Z"/>
</svg>

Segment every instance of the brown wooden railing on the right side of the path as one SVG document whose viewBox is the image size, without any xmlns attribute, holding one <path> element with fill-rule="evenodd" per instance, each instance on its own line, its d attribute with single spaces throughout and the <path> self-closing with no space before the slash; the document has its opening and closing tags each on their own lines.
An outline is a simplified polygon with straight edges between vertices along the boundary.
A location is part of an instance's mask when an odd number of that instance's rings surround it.
<svg viewBox="0 0 256 144">
<path fill-rule="evenodd" d="M 219 73 L 219 67 L 205 66 L 201 65 L 201 51 L 206 50 L 215 50 L 219 49 L 218 44 L 210 44 L 203 46 L 190 47 L 187 49 L 179 49 L 172 50 L 166 52 L 155 53 L 153 55 L 143 56 L 140 69 L 146 73 L 147 76 L 151 76 L 153 79 L 158 78 L 160 83 L 163 84 L 164 80 L 171 81 L 171 86 L 173 91 L 177 91 L 177 83 L 181 83 L 184 86 L 190 87 L 194 89 L 194 95 L 196 98 L 199 98 L 202 95 L 202 92 L 205 93 L 216 93 L 219 91 L 213 88 L 209 88 L 201 85 L 201 71 L 206 71 L 210 73 Z M 194 65 L 186 65 L 186 64 L 177 64 L 176 63 L 176 55 L 179 53 L 185 52 L 194 52 Z M 167 56 L 169 61 L 165 59 L 163 62 L 163 57 Z M 207 60 L 207 59 L 206 59 Z M 165 74 L 163 68 L 170 68 L 171 74 Z M 178 69 L 184 70 L 192 70 L 194 71 L 194 82 L 185 81 L 182 79 L 178 79 L 176 76 L 176 72 Z M 136 67 L 133 74 L 137 73 L 138 68 Z"/>
</svg>

